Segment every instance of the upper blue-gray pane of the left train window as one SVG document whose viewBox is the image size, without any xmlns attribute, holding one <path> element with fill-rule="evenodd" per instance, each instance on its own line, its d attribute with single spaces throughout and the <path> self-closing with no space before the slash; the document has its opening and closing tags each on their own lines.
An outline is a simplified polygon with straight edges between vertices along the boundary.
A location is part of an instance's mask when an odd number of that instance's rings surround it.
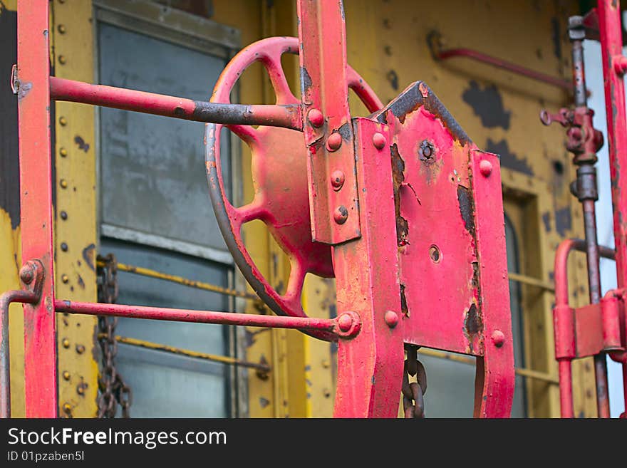
<svg viewBox="0 0 627 468">
<path fill-rule="evenodd" d="M 207 100 L 224 60 L 100 24 L 100 83 Z M 204 175 L 204 124 L 100 110 L 102 221 L 226 250 Z M 230 190 L 229 139 L 223 138 Z"/>
</svg>

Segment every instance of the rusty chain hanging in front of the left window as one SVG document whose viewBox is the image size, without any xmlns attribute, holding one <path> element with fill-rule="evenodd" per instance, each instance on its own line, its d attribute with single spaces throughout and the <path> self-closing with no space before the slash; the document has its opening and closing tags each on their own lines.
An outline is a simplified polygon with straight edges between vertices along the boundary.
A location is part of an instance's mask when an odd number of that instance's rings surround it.
<svg viewBox="0 0 627 468">
<path fill-rule="evenodd" d="M 118 268 L 115 255 L 98 256 L 98 301 L 113 304 L 118 300 Z M 118 354 L 118 342 L 115 340 L 117 317 L 98 317 L 98 342 L 102 349 L 103 370 L 98 378 L 98 417 L 113 418 L 122 407 L 122 417 L 130 417 L 130 405 L 133 392 L 125 384 L 122 376 L 115 369 L 115 356 Z"/>
</svg>

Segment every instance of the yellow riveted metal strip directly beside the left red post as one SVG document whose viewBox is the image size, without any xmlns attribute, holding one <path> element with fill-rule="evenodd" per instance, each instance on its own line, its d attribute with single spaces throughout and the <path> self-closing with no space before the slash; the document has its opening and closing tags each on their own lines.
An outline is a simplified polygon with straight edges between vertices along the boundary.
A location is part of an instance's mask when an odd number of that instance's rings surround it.
<svg viewBox="0 0 627 468">
<path fill-rule="evenodd" d="M 90 1 L 54 1 L 52 38 L 56 76 L 93 82 L 91 13 Z M 59 102 L 54 115 L 56 296 L 93 302 L 96 301 L 95 108 Z M 96 325 L 93 316 L 57 316 L 61 417 L 97 414 Z"/>
</svg>

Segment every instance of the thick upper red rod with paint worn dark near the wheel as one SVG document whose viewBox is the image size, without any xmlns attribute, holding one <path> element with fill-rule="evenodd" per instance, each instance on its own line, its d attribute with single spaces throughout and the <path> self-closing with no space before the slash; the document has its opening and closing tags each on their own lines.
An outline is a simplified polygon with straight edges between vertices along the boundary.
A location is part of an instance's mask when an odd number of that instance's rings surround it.
<svg viewBox="0 0 627 468">
<path fill-rule="evenodd" d="M 50 77 L 50 97 L 53 100 L 101 105 L 197 122 L 271 125 L 294 130 L 303 128 L 300 105 L 208 103 L 114 86 L 93 85 L 54 76 Z"/>
</svg>

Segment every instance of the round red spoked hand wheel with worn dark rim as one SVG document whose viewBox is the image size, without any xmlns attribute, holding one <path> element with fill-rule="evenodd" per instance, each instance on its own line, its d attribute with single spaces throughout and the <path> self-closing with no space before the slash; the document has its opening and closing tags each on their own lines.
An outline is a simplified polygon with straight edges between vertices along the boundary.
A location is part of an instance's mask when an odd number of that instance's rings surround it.
<svg viewBox="0 0 627 468">
<path fill-rule="evenodd" d="M 299 104 L 289 89 L 281 56 L 298 53 L 299 40 L 293 37 L 266 38 L 252 43 L 235 56 L 218 79 L 211 102 L 230 103 L 233 86 L 239 76 L 255 61 L 269 74 L 276 104 Z M 355 91 L 370 112 L 383 107 L 373 90 L 350 66 L 348 88 Z M 333 77 L 329 77 L 333 79 Z M 205 143 L 207 181 L 217 222 L 235 264 L 257 295 L 272 311 L 282 316 L 306 316 L 301 292 L 307 273 L 333 277 L 331 247 L 311 240 L 307 182 L 307 149 L 302 132 L 287 128 L 227 125 L 252 152 L 254 199 L 243 207 L 234 207 L 227 199 L 220 162 L 220 133 L 223 125 L 207 124 Z M 266 224 L 290 261 L 290 275 L 284 293 L 279 293 L 261 274 L 242 240 L 242 225 L 259 219 Z M 332 340 L 329 333 L 310 333 Z"/>
</svg>

